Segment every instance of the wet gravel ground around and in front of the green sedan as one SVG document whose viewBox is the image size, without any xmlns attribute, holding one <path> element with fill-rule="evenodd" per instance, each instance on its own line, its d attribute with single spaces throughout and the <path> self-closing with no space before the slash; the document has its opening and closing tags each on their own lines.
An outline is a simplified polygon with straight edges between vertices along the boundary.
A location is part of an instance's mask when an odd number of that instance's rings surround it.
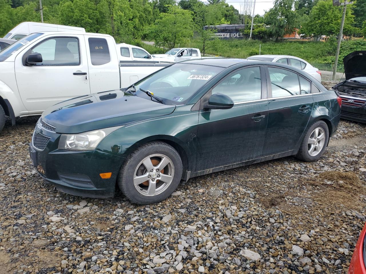
<svg viewBox="0 0 366 274">
<path fill-rule="evenodd" d="M 347 273 L 366 217 L 366 125 L 316 163 L 200 176 L 136 206 L 57 191 L 31 166 L 38 117 L 0 133 L 0 273 Z"/>
</svg>

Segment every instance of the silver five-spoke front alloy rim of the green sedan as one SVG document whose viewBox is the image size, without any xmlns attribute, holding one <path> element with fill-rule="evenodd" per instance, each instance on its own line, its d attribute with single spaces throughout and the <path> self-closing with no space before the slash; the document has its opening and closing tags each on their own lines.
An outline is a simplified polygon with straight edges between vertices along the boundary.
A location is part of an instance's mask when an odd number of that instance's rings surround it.
<svg viewBox="0 0 366 274">
<path fill-rule="evenodd" d="M 135 169 L 133 183 L 144 196 L 163 193 L 174 177 L 174 165 L 168 156 L 153 154 L 145 157 Z"/>
</svg>

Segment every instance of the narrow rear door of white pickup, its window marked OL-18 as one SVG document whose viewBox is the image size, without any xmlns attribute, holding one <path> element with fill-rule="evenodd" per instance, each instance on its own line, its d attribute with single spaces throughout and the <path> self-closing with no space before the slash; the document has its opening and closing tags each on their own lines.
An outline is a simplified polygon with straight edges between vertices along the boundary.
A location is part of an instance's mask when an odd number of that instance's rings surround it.
<svg viewBox="0 0 366 274">
<path fill-rule="evenodd" d="M 101 35 L 84 35 L 91 93 L 120 88 L 119 56 L 115 41 Z"/>
</svg>

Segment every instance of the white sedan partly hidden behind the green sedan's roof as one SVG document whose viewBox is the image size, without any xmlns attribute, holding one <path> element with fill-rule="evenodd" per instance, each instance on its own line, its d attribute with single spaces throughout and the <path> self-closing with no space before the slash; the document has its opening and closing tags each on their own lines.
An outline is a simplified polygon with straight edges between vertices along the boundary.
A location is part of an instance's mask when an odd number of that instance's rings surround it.
<svg viewBox="0 0 366 274">
<path fill-rule="evenodd" d="M 309 73 L 311 76 L 313 76 L 319 82 L 321 81 L 321 72 L 317 68 L 314 68 L 308 62 L 306 62 L 305 60 L 303 60 L 299 57 L 289 56 L 289 55 L 270 55 L 270 54 L 267 54 L 267 55 L 250 56 L 247 59 L 276 62 L 276 63 L 281 63 L 281 64 L 294 66 L 295 68 L 301 69 L 301 70 Z"/>
</svg>

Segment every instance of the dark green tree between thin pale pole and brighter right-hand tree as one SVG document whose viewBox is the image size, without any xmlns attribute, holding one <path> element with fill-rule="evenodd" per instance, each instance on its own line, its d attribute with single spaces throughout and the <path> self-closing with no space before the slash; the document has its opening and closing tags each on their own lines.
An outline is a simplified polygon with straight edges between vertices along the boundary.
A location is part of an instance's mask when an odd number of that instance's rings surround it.
<svg viewBox="0 0 366 274">
<path fill-rule="evenodd" d="M 290 34 L 298 25 L 298 15 L 292 9 L 294 0 L 275 0 L 273 8 L 264 15 L 264 22 L 270 25 L 269 35 L 271 37 L 282 38 L 285 34 Z"/>
</svg>

